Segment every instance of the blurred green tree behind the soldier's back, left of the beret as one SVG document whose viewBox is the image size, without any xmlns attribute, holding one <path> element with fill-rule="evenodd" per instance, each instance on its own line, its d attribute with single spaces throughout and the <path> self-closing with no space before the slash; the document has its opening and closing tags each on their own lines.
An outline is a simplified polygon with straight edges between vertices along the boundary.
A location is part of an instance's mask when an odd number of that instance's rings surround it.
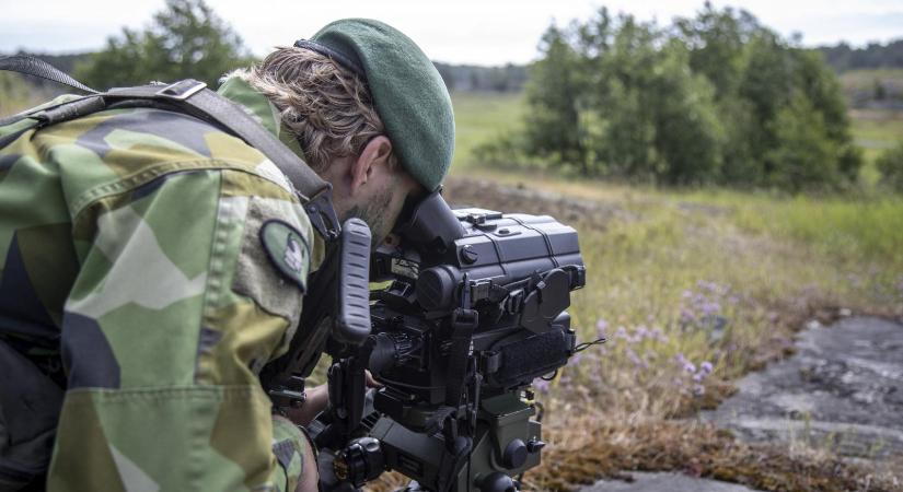
<svg viewBox="0 0 903 492">
<path fill-rule="evenodd" d="M 239 35 L 204 0 L 167 0 L 148 28 L 124 27 L 104 50 L 76 66 L 76 77 L 97 89 L 188 77 L 215 86 L 250 60 Z"/>
</svg>

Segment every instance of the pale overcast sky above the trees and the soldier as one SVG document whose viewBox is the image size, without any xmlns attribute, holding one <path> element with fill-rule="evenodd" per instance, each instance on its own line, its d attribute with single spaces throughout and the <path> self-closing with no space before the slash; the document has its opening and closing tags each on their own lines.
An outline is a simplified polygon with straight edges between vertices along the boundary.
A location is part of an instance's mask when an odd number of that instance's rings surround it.
<svg viewBox="0 0 903 492">
<path fill-rule="evenodd" d="M 309 37 L 336 19 L 382 20 L 414 38 L 437 61 L 523 63 L 549 23 L 588 19 L 600 5 L 660 24 L 692 15 L 703 0 L 208 0 L 256 55 Z M 749 10 L 809 46 L 854 45 L 903 37 L 903 0 L 741 0 L 713 1 Z M 20 48 L 43 52 L 94 50 L 126 25 L 140 28 L 164 0 L 0 0 L 0 52 Z"/>
</svg>

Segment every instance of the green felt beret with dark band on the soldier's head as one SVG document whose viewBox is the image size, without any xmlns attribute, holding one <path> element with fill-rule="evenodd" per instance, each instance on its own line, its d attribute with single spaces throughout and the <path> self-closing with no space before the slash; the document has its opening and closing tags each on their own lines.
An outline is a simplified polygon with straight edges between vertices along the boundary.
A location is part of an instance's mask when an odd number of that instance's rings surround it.
<svg viewBox="0 0 903 492">
<path fill-rule="evenodd" d="M 370 19 L 333 22 L 311 40 L 338 52 L 339 65 L 363 72 L 402 165 L 427 189 L 438 189 L 451 166 L 454 115 L 449 91 L 424 51 L 400 31 Z"/>
</svg>

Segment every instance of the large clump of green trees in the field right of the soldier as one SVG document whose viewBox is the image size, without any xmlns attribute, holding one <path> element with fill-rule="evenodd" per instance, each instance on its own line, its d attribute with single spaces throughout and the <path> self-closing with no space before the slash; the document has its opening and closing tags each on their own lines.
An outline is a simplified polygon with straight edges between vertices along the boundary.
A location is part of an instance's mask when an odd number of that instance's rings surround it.
<svg viewBox="0 0 903 492">
<path fill-rule="evenodd" d="M 482 160 L 790 191 L 858 176 L 837 78 L 749 12 L 706 3 L 659 26 L 603 8 L 549 26 L 540 51 L 523 130 L 481 147 Z"/>
</svg>

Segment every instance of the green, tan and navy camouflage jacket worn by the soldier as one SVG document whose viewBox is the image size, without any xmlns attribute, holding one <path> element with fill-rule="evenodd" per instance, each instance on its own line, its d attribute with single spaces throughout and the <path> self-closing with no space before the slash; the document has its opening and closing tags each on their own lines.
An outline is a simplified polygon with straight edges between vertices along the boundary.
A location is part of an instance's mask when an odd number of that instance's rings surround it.
<svg viewBox="0 0 903 492">
<path fill-rule="evenodd" d="M 220 93 L 280 133 L 245 82 Z M 288 349 L 323 245 L 286 177 L 158 109 L 5 140 L 0 331 L 49 340 L 67 387 L 48 490 L 293 490 L 306 442 L 271 419 L 257 376 Z M 268 234 L 296 235 L 294 278 Z"/>
</svg>

